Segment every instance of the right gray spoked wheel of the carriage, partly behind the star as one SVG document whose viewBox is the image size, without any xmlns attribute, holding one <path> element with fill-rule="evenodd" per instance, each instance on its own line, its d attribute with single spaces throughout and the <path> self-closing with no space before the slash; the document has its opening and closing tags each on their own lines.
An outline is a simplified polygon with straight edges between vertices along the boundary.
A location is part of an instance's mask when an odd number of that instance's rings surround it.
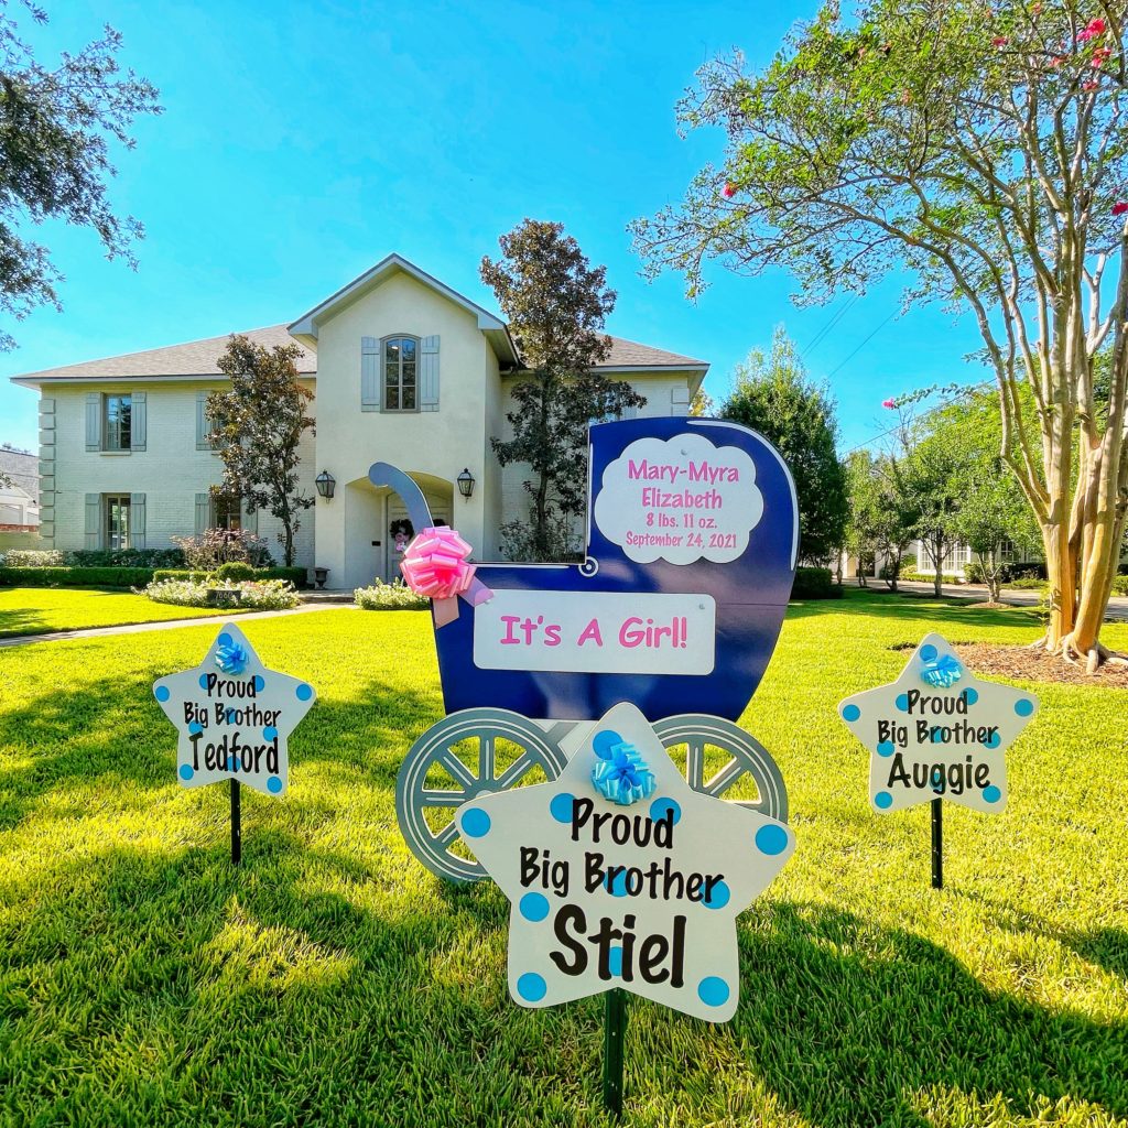
<svg viewBox="0 0 1128 1128">
<path fill-rule="evenodd" d="M 694 791 L 720 797 L 747 776 L 756 784 L 757 797 L 733 802 L 787 821 L 787 788 L 779 768 L 767 749 L 743 729 L 719 716 L 686 713 L 656 721 L 654 732 L 676 764 L 685 756 L 686 779 Z M 706 779 L 712 765 L 717 765 L 716 770 Z"/>
</svg>

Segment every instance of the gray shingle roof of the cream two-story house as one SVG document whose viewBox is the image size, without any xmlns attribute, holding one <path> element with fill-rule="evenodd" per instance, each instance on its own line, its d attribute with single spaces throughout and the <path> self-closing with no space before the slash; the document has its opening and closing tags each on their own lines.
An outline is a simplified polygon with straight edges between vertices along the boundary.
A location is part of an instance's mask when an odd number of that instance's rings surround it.
<svg viewBox="0 0 1128 1128">
<path fill-rule="evenodd" d="M 244 335 L 267 349 L 274 345 L 298 344 L 301 356 L 298 371 L 316 373 L 317 354 L 300 345 L 290 336 L 284 325 L 268 325 L 262 329 L 247 329 Z M 126 353 L 124 356 L 107 356 L 104 360 L 88 360 L 79 364 L 64 364 L 39 372 L 25 372 L 14 377 L 34 384 L 36 380 L 130 380 L 162 376 L 219 376 L 215 364 L 227 347 L 228 335 L 188 341 L 164 349 L 148 349 L 144 352 Z M 611 352 L 599 368 L 686 368 L 704 367 L 705 361 L 681 356 L 664 349 L 652 349 L 635 341 L 611 337 Z"/>
</svg>

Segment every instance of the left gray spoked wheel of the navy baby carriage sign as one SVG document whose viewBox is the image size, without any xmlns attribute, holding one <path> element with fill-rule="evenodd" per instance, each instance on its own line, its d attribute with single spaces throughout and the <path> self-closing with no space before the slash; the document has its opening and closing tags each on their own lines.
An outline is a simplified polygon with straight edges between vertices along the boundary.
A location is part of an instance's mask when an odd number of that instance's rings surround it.
<svg viewBox="0 0 1128 1128">
<path fill-rule="evenodd" d="M 555 779 L 565 758 L 556 741 L 519 713 L 451 713 L 412 744 L 396 778 L 396 816 L 411 852 L 448 881 L 479 881 L 485 870 L 467 849 L 455 816 L 483 793 Z"/>
</svg>

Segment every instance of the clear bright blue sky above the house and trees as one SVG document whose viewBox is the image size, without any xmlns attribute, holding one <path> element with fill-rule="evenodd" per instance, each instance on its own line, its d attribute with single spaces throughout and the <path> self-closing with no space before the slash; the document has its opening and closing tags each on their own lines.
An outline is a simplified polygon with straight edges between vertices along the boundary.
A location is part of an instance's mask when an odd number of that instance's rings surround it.
<svg viewBox="0 0 1128 1128">
<path fill-rule="evenodd" d="M 799 310 L 785 273 L 714 266 L 694 305 L 679 277 L 640 277 L 626 232 L 721 153 L 720 132 L 677 135 L 695 69 L 734 46 L 767 61 L 813 2 L 47 3 L 41 58 L 108 21 L 166 111 L 140 122 L 112 188 L 146 224 L 140 268 L 106 262 L 88 231 L 44 228 L 64 310 L 6 326 L 19 347 L 3 376 L 289 321 L 390 250 L 496 308 L 478 262 L 526 215 L 607 265 L 611 333 L 710 361 L 715 397 L 775 325 L 805 346 L 848 300 Z M 978 377 L 970 319 L 896 316 L 902 281 L 805 352 L 831 377 L 844 450 L 889 425 L 885 396 Z M 7 380 L 0 441 L 36 442 L 35 394 Z"/>
</svg>

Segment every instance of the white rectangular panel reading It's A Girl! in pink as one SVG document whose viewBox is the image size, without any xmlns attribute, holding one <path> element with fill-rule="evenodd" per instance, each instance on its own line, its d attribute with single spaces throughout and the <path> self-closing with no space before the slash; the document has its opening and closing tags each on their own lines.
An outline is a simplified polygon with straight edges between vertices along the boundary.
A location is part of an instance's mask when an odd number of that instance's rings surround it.
<svg viewBox="0 0 1128 1128">
<path fill-rule="evenodd" d="M 474 613 L 485 670 L 712 673 L 712 596 L 494 591 Z"/>
</svg>

